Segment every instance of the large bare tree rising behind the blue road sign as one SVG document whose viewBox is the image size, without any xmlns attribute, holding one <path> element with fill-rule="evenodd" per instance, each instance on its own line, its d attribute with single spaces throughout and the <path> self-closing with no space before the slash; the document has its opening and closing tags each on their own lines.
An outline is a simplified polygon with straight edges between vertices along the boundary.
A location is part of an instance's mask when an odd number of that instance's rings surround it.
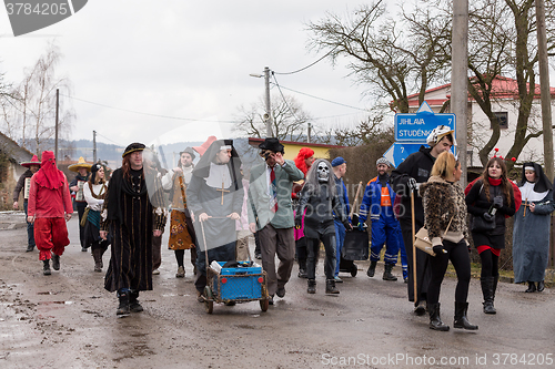
<svg viewBox="0 0 555 369">
<path fill-rule="evenodd" d="M 385 1 L 361 6 L 342 19 L 327 13 L 310 22 L 309 47 L 326 52 L 332 63 L 349 60 L 351 75 L 367 84 L 367 93 L 392 101 L 395 110 L 408 112 L 407 96 L 444 81 L 450 62 L 451 18 L 435 8 L 401 9 L 398 20 L 387 16 Z"/>
</svg>

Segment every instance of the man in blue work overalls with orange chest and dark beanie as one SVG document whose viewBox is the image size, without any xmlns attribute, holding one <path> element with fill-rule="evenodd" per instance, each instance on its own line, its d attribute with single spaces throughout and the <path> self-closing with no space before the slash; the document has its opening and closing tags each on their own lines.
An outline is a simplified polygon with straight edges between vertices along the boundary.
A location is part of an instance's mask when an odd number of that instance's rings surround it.
<svg viewBox="0 0 555 369">
<path fill-rule="evenodd" d="M 370 180 L 364 191 L 360 211 L 359 227 L 362 228 L 369 214 L 372 221 L 372 246 L 370 253 L 370 267 L 366 271 L 369 277 L 373 277 L 376 270 L 380 253 L 385 245 L 385 269 L 382 279 L 397 280 L 391 271 L 397 263 L 397 254 L 403 242 L 401 225 L 393 212 L 395 192 L 390 185 L 390 162 L 380 157 L 376 161 L 377 176 Z"/>
</svg>

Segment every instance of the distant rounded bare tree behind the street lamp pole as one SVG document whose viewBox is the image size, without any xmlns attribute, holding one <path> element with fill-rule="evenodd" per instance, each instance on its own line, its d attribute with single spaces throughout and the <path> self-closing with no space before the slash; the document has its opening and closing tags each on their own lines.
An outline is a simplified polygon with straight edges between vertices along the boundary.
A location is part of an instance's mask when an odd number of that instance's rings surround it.
<svg viewBox="0 0 555 369">
<path fill-rule="evenodd" d="M 265 113 L 264 99 L 261 96 L 259 102 L 252 103 L 245 107 L 239 107 L 240 116 L 233 130 L 242 135 L 250 137 L 265 137 L 266 123 L 264 121 Z M 294 98 L 284 95 L 272 95 L 271 100 L 273 126 L 275 137 L 285 141 L 303 141 L 306 140 L 307 124 L 312 117 L 302 109 Z"/>
</svg>

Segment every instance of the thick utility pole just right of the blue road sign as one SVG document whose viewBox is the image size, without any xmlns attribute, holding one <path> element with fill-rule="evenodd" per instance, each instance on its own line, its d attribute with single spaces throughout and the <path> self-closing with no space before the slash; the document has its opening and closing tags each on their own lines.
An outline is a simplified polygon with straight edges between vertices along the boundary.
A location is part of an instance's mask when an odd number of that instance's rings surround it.
<svg viewBox="0 0 555 369">
<path fill-rule="evenodd" d="M 458 162 L 463 170 L 463 188 L 466 186 L 467 101 L 468 101 L 468 0 L 453 1 L 453 38 L 451 72 L 451 112 L 456 116 L 456 142 Z"/>
</svg>

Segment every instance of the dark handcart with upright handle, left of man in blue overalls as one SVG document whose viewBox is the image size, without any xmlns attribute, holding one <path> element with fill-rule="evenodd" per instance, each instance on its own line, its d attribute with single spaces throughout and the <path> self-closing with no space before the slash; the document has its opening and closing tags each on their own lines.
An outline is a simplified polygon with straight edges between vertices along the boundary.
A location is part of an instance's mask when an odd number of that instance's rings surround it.
<svg viewBox="0 0 555 369">
<path fill-rule="evenodd" d="M 359 214 L 354 213 L 356 204 L 359 202 L 359 194 L 362 188 L 362 182 L 359 183 L 359 188 L 354 196 L 354 203 L 351 207 L 351 218 L 353 229 L 345 233 L 345 240 L 343 242 L 343 248 L 341 249 L 340 259 L 340 271 L 351 273 L 352 277 L 355 277 L 359 273 L 359 267 L 353 260 L 367 260 L 369 259 L 369 232 L 367 225 L 364 224 L 363 230 L 360 230 L 355 225 L 359 224 Z"/>
</svg>

